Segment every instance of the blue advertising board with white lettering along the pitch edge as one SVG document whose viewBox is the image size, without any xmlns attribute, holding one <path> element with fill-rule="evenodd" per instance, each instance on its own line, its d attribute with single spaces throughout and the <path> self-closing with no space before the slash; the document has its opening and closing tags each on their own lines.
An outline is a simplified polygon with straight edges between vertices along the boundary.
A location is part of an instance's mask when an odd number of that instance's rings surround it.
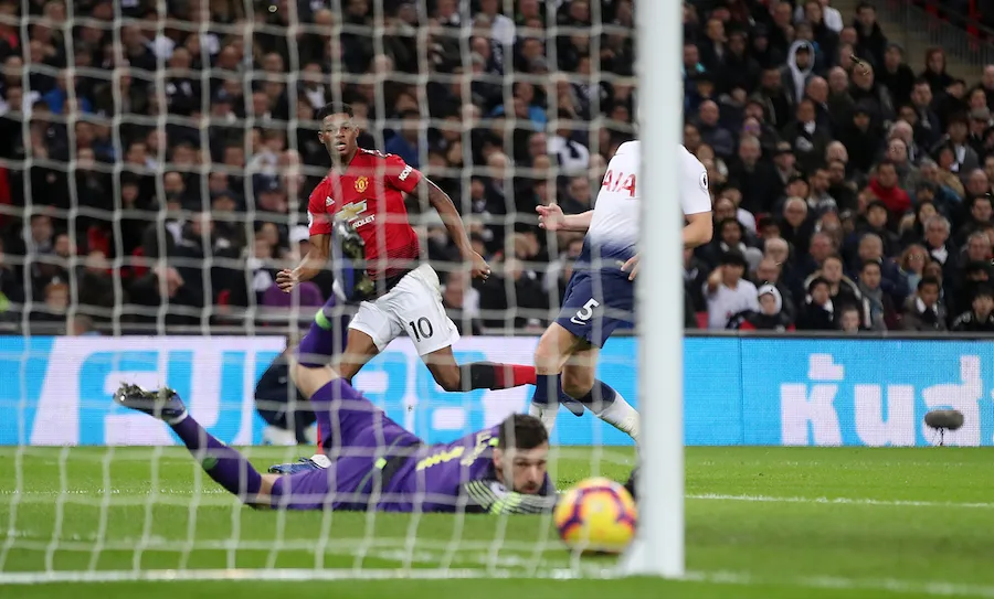
<svg viewBox="0 0 994 599">
<path fill-rule="evenodd" d="M 459 362 L 531 362 L 533 338 L 473 338 Z M 611 340 L 598 376 L 634 406 L 673 402 L 666 382 L 637 393 L 637 339 Z M 979 341 L 689 338 L 684 341 L 687 445 L 928 446 L 922 424 L 956 408 L 949 445 L 994 445 L 994 345 Z M 116 407 L 121 381 L 169 385 L 230 445 L 263 440 L 253 388 L 283 338 L 0 338 L 0 445 L 172 445 L 168 429 Z M 672 356 L 658 356 L 668 360 Z M 653 359 L 654 361 L 655 359 Z M 531 387 L 445 393 L 406 340 L 391 344 L 356 386 L 429 442 L 527 409 Z M 590 414 L 561 410 L 560 445 L 631 445 Z"/>
</svg>

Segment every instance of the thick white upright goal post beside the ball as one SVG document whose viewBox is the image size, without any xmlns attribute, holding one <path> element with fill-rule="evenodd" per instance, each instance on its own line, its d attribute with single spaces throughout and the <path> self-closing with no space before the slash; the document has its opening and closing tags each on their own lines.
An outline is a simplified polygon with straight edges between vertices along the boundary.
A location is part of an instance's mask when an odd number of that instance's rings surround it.
<svg viewBox="0 0 994 599">
<path fill-rule="evenodd" d="M 621 569 L 630 575 L 684 575 L 684 288 L 678 189 L 683 94 L 683 2 L 639 2 L 638 137 L 642 140 L 643 235 L 638 391 L 638 533 Z M 651 234 L 645 234 L 651 232 Z M 664 307 L 658 309 L 658 307 Z M 656 307 L 656 309 L 654 309 Z M 656 389 L 654 392 L 654 389 Z M 665 389 L 659 394 L 658 389 Z"/>
</svg>

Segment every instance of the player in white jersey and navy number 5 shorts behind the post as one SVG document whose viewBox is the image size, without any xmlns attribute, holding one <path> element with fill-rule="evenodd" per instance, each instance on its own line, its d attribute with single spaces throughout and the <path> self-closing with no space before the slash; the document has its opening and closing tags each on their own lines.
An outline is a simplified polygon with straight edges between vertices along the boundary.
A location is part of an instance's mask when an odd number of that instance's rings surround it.
<svg viewBox="0 0 994 599">
<path fill-rule="evenodd" d="M 711 239 L 711 197 L 708 173 L 697 158 L 679 146 L 680 204 L 687 222 L 684 247 Z M 622 143 L 607 164 L 594 210 L 564 215 L 556 204 L 538 206 L 547 231 L 583 231 L 583 250 L 573 267 L 562 310 L 535 351 L 536 388 L 531 415 L 552 429 L 560 388 L 604 421 L 638 440 L 638 413 L 595 375 L 598 352 L 622 322 L 634 322 L 635 275 L 638 270 L 638 171 L 641 143 Z M 666 197 L 657 201 L 667 201 Z M 678 285 L 674 281 L 674 285 Z M 561 385 L 561 387 L 560 387 Z M 579 406 L 568 406 L 582 414 Z M 579 408 L 579 413 L 578 413 Z"/>
</svg>

